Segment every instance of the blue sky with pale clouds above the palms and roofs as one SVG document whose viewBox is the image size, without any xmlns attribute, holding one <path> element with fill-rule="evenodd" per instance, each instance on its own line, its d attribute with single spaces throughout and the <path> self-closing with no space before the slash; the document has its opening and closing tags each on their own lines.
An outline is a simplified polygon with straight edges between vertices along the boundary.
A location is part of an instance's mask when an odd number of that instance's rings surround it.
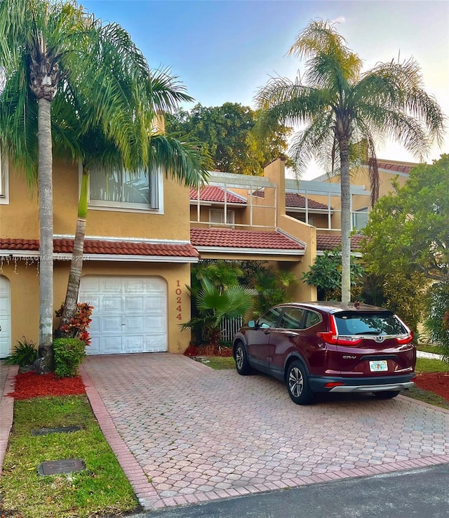
<svg viewBox="0 0 449 518">
<path fill-rule="evenodd" d="M 311 20 L 337 22 L 363 70 L 377 62 L 415 59 L 424 88 L 449 116 L 449 1 L 93 0 L 81 4 L 103 22 L 126 29 L 152 68 L 169 68 L 195 102 L 239 102 L 270 77 L 295 79 L 304 62 L 287 55 Z M 185 109 L 194 106 L 184 105 Z M 428 160 L 449 153 L 434 146 Z M 385 142 L 377 157 L 416 161 L 401 145 Z M 309 178 L 321 173 L 311 165 Z"/>
</svg>

